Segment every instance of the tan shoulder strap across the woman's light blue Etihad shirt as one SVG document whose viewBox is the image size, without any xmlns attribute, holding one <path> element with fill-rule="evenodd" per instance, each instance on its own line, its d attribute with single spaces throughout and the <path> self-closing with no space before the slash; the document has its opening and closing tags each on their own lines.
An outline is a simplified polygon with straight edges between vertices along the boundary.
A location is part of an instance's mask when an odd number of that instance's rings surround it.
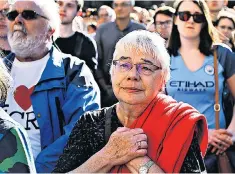
<svg viewBox="0 0 235 174">
<path fill-rule="evenodd" d="M 219 77 L 218 77 L 218 61 L 217 61 L 217 51 L 214 49 L 214 79 L 215 79 L 215 128 L 219 129 L 219 112 L 220 112 L 220 104 L 219 104 Z"/>
</svg>

